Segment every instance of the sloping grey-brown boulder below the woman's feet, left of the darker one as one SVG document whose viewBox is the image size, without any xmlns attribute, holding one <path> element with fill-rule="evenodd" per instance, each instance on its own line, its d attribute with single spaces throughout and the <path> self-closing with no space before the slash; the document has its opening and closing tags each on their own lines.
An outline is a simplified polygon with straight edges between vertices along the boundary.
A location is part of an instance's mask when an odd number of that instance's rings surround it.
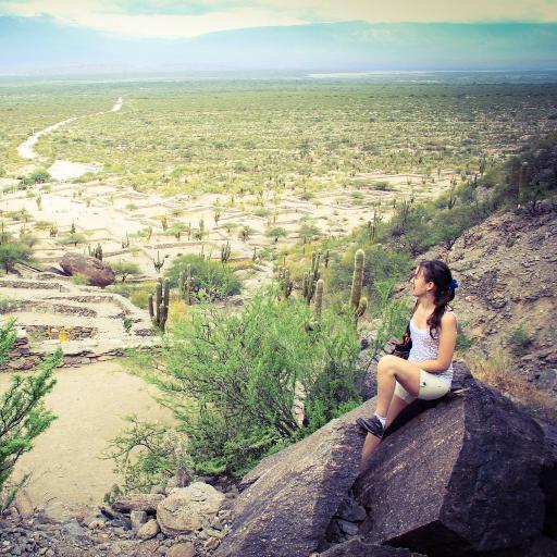
<svg viewBox="0 0 557 557">
<path fill-rule="evenodd" d="M 364 436 L 356 425 L 374 400 L 263 459 L 240 484 L 231 533 L 214 557 L 307 557 L 358 475 Z"/>
</svg>

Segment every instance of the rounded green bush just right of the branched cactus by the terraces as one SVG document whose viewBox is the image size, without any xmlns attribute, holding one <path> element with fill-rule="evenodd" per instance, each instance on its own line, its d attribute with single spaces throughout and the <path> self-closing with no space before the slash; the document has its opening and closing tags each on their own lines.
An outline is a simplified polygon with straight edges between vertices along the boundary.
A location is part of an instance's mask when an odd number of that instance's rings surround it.
<svg viewBox="0 0 557 557">
<path fill-rule="evenodd" d="M 242 292 L 242 282 L 232 270 L 218 261 L 208 261 L 195 255 L 175 258 L 166 272 L 171 286 L 177 287 L 180 273 L 191 269 L 191 292 L 198 299 L 210 301 L 234 296 Z"/>
</svg>

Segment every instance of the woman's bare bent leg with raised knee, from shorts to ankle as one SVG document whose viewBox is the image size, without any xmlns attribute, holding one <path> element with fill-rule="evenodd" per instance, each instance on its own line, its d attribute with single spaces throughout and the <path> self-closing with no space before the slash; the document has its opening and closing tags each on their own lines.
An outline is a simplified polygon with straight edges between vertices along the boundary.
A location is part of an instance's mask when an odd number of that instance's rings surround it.
<svg viewBox="0 0 557 557">
<path fill-rule="evenodd" d="M 397 356 L 383 356 L 377 363 L 377 406 L 375 412 L 383 417 L 387 416 L 397 381 L 410 395 L 418 396 L 420 392 L 420 371 L 418 363 Z"/>
</svg>

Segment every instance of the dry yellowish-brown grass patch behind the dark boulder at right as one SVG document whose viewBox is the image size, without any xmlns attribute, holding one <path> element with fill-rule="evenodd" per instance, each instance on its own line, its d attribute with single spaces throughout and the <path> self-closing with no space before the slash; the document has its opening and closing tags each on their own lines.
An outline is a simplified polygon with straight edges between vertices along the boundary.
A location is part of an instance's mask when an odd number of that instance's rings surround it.
<svg viewBox="0 0 557 557">
<path fill-rule="evenodd" d="M 498 388 L 532 417 L 557 424 L 555 397 L 519 375 L 503 349 L 493 352 L 488 358 L 470 350 L 466 362 L 475 379 Z"/>
</svg>

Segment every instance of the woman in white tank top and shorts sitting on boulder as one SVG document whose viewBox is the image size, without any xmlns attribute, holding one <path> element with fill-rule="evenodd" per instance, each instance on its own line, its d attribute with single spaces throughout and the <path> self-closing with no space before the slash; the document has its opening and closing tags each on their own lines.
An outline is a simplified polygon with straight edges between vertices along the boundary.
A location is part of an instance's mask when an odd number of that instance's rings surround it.
<svg viewBox="0 0 557 557">
<path fill-rule="evenodd" d="M 434 259 L 422 261 L 410 280 L 416 305 L 409 330 L 408 360 L 383 356 L 377 363 L 377 404 L 371 418 L 357 423 L 368 432 L 361 470 L 381 442 L 385 429 L 416 398 L 433 400 L 446 395 L 453 381 L 457 320 L 448 302 L 458 286 L 449 268 Z"/>
</svg>

